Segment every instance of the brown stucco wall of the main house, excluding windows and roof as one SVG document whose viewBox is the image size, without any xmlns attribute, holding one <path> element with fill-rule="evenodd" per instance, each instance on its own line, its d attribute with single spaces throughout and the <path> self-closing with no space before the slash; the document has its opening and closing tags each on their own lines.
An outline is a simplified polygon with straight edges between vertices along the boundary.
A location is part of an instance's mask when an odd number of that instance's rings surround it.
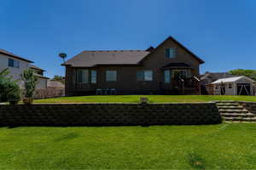
<svg viewBox="0 0 256 170">
<path fill-rule="evenodd" d="M 166 48 L 177 48 L 177 57 L 167 59 Z M 89 68 L 89 70 L 97 71 L 96 84 L 77 84 L 75 86 L 72 74 L 73 69 L 76 68 L 66 67 L 66 94 L 69 96 L 96 94 L 96 88 L 116 88 L 118 94 L 160 94 L 163 90 L 168 93 L 172 89 L 172 84 L 164 82 L 164 72 L 160 68 L 169 63 L 191 65 L 193 67 L 192 75 L 199 77 L 200 62 L 176 42 L 168 40 L 143 59 L 141 65 L 99 65 L 96 68 Z M 117 82 L 106 82 L 106 71 L 108 70 L 117 71 Z M 153 71 L 153 81 L 137 82 L 137 71 L 139 70 Z"/>
</svg>

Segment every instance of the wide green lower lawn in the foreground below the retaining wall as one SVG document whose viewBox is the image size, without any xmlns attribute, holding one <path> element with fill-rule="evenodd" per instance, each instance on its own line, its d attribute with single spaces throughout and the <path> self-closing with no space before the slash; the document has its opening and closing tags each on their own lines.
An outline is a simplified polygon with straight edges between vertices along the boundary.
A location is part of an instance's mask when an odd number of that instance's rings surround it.
<svg viewBox="0 0 256 170">
<path fill-rule="evenodd" d="M 0 128 L 0 169 L 255 169 L 256 124 Z"/>
</svg>

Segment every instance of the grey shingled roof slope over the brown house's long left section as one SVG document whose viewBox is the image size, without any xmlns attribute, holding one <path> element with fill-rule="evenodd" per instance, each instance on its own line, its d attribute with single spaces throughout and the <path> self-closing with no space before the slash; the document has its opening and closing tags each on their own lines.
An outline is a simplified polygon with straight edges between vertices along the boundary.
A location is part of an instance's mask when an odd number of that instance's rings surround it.
<svg viewBox="0 0 256 170">
<path fill-rule="evenodd" d="M 137 65 L 149 54 L 143 50 L 83 51 L 62 65 L 94 67 L 96 65 Z"/>
</svg>

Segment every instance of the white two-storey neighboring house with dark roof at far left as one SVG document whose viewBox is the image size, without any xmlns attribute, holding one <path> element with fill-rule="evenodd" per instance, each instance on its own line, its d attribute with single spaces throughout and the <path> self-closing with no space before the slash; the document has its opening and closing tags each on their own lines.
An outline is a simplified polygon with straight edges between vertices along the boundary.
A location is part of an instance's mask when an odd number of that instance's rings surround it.
<svg viewBox="0 0 256 170">
<path fill-rule="evenodd" d="M 44 77 L 44 70 L 32 65 L 32 61 L 24 59 L 16 54 L 12 54 L 6 50 L 0 49 L 0 71 L 9 69 L 9 77 L 13 77 L 14 80 L 20 80 L 18 83 L 20 88 L 24 88 L 20 75 L 28 68 L 32 68 L 35 75 L 38 77 L 37 89 L 47 87 L 47 77 Z"/>
</svg>

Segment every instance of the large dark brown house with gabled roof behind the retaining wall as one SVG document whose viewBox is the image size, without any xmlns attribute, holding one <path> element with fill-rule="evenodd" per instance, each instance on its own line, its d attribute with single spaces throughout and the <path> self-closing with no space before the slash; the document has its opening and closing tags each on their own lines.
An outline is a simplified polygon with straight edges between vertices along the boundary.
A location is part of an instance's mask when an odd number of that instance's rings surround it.
<svg viewBox="0 0 256 170">
<path fill-rule="evenodd" d="M 147 50 L 83 51 L 66 66 L 66 94 L 200 94 L 204 61 L 168 37 Z M 110 90 L 110 91 L 111 91 Z"/>
</svg>

